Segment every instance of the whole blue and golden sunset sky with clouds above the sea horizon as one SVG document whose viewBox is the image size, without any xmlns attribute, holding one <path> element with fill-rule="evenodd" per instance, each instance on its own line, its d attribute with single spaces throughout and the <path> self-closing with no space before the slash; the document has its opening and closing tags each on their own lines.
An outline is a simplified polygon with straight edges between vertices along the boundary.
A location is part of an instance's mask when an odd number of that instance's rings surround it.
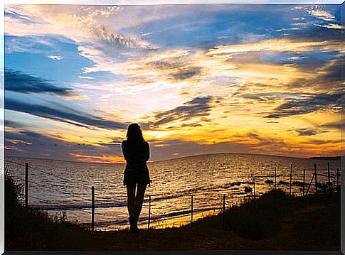
<svg viewBox="0 0 345 255">
<path fill-rule="evenodd" d="M 341 155 L 340 5 L 5 6 L 5 155 Z"/>
</svg>

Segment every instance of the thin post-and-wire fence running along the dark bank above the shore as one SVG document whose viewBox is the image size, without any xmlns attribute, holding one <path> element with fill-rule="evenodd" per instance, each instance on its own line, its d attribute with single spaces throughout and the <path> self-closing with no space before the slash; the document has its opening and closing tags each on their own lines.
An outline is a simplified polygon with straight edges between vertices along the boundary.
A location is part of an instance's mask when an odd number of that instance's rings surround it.
<svg viewBox="0 0 345 255">
<path fill-rule="evenodd" d="M 33 180 L 29 180 L 29 169 L 34 169 L 36 170 L 38 173 L 44 173 L 44 174 L 48 174 L 51 175 L 52 178 L 56 178 L 56 179 L 60 179 L 63 180 L 64 182 L 67 182 L 68 180 L 60 178 L 60 176 L 58 175 L 54 175 L 52 173 L 48 173 L 45 170 L 41 170 L 41 169 L 37 169 L 37 168 L 33 168 L 32 166 L 29 166 L 28 163 L 26 162 L 25 165 L 22 165 L 20 163 L 14 162 L 14 161 L 9 161 L 9 160 L 5 160 L 6 163 L 12 163 L 12 164 L 16 164 L 17 166 L 25 166 L 25 192 L 24 192 L 24 205 L 26 208 L 28 208 L 28 198 L 34 198 L 36 200 L 38 200 L 39 202 L 45 202 L 47 204 L 49 204 L 48 200 L 44 200 L 41 199 L 39 197 L 35 197 L 33 195 L 30 195 L 28 192 L 28 184 L 29 183 L 35 183 L 36 185 L 41 185 L 45 188 L 51 188 L 48 187 L 46 185 L 43 185 L 42 183 L 36 183 Z M 322 170 L 326 170 L 326 169 L 322 169 Z M 290 182 L 286 183 L 282 180 L 280 180 L 280 182 L 277 182 L 277 168 L 275 167 L 275 172 L 274 172 L 274 182 L 272 180 L 267 179 L 265 181 L 266 184 L 272 185 L 274 183 L 274 189 L 277 190 L 277 185 L 289 185 L 289 196 L 290 198 L 292 197 L 292 185 L 299 185 L 302 186 L 302 196 L 304 195 L 308 195 L 308 192 L 310 190 L 310 188 L 312 186 L 314 186 L 314 192 L 319 192 L 319 191 L 330 191 L 333 192 L 334 190 L 336 190 L 337 194 L 339 194 L 339 177 L 340 177 L 340 173 L 339 173 L 339 168 L 336 168 L 336 176 L 331 175 L 331 168 L 330 168 L 330 164 L 329 162 L 327 162 L 327 175 L 322 174 L 322 173 L 318 173 L 318 168 L 317 165 L 314 164 L 314 169 L 313 169 L 313 173 L 312 173 L 312 179 L 309 181 L 309 183 L 306 183 L 306 169 L 303 169 L 303 180 L 302 182 L 299 182 L 298 179 L 294 180 L 294 182 L 292 182 L 292 172 L 293 172 L 293 166 L 292 164 L 290 165 Z M 317 182 L 317 176 L 321 176 L 324 178 L 327 178 L 327 183 L 319 183 Z M 331 182 L 332 179 L 336 179 L 333 180 L 333 182 Z M 314 181 L 314 185 L 312 185 Z M 336 185 L 334 185 L 334 183 L 336 183 Z M 254 202 L 256 200 L 256 198 L 258 197 L 257 193 L 255 192 L 255 177 L 253 177 L 253 182 L 250 183 L 253 184 L 253 188 L 246 186 L 245 187 L 245 191 L 250 192 L 250 196 L 253 197 Z M 90 229 L 93 231 L 95 229 L 95 187 L 94 186 L 87 186 L 84 185 L 83 183 L 79 183 L 79 185 L 83 186 L 84 188 L 87 188 L 89 190 L 91 190 L 91 197 L 90 197 L 90 211 L 85 210 L 83 208 L 75 208 L 75 210 L 77 211 L 82 211 L 82 212 L 87 212 L 88 214 L 90 214 Z M 335 186 L 335 187 L 334 187 Z M 305 192 L 305 188 L 307 188 L 307 192 Z M 251 193 L 253 192 L 253 193 Z M 260 196 L 260 195 L 259 195 Z M 147 217 L 147 229 L 152 228 L 152 195 L 148 195 L 149 197 L 149 205 L 148 205 L 148 217 Z M 194 217 L 194 201 L 193 201 L 193 194 L 191 194 L 191 200 L 190 200 L 190 219 L 189 223 L 193 223 L 193 217 Z M 221 209 L 218 210 L 218 212 L 222 212 L 222 227 L 224 226 L 224 222 L 225 222 L 225 205 L 226 205 L 226 196 L 225 194 L 223 194 L 223 199 L 222 199 L 222 207 Z M 242 202 L 242 200 L 240 200 L 240 202 Z M 159 220 L 159 219 L 158 219 Z M 181 223 L 180 223 L 181 225 Z"/>
</svg>

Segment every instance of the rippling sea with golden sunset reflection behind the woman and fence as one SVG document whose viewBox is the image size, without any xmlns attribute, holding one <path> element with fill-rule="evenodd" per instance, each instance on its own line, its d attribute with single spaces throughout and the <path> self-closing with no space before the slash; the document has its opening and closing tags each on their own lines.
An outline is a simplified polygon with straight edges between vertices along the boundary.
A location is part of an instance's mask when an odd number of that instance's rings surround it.
<svg viewBox="0 0 345 255">
<path fill-rule="evenodd" d="M 95 187 L 95 229 L 113 230 L 128 226 L 127 190 L 122 184 L 124 164 L 76 163 L 34 158 L 5 158 L 5 168 L 16 183 L 24 183 L 28 162 L 28 205 L 46 210 L 51 215 L 64 212 L 72 222 L 90 224 L 91 187 Z M 148 163 L 152 184 L 147 188 L 139 223 L 147 226 L 149 195 L 152 226 L 159 222 L 187 219 L 193 213 L 217 212 L 240 202 L 245 197 L 262 195 L 274 188 L 275 168 L 277 188 L 289 192 L 292 164 L 292 194 L 302 195 L 303 169 L 306 187 L 312 180 L 314 164 L 320 183 L 327 182 L 327 162 L 331 182 L 336 183 L 336 168 L 340 160 L 320 160 L 262 156 L 252 154 L 207 154 Z M 340 178 L 339 178 L 340 181 Z M 298 183 L 299 182 L 299 183 Z M 247 188 L 246 188 L 247 187 Z M 252 188 L 248 191 L 248 188 Z M 314 192 L 314 181 L 309 193 Z"/>
</svg>

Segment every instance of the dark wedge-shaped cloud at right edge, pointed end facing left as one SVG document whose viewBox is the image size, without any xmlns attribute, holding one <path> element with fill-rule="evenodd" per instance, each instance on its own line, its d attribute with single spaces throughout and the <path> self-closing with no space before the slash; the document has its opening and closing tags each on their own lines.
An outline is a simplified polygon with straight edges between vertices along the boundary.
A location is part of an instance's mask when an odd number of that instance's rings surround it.
<svg viewBox="0 0 345 255">
<path fill-rule="evenodd" d="M 291 99 L 276 107 L 275 112 L 266 117 L 275 119 L 285 116 L 308 114 L 322 109 L 339 112 L 340 99 L 341 94 L 315 94 L 307 99 Z"/>
</svg>

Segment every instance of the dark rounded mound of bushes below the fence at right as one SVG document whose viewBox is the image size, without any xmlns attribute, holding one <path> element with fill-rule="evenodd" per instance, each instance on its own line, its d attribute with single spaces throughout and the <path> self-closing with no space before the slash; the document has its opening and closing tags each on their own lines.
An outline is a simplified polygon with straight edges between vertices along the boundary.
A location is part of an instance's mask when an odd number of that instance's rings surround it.
<svg viewBox="0 0 345 255">
<path fill-rule="evenodd" d="M 282 224 L 286 220 L 289 224 Z M 320 228 L 316 230 L 315 225 Z M 225 229 L 253 240 L 272 238 L 290 229 L 290 239 L 303 237 L 305 242 L 313 242 L 318 237 L 324 244 L 334 238 L 332 244 L 340 244 L 340 200 L 334 193 L 290 199 L 282 190 L 271 190 L 256 201 L 228 210 Z"/>
</svg>

